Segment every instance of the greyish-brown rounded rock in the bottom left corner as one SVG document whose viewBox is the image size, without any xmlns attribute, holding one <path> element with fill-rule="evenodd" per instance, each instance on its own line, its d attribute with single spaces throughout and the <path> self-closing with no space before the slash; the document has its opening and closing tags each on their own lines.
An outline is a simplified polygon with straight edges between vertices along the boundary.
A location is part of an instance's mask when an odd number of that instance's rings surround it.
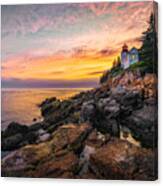
<svg viewBox="0 0 163 186">
<path fill-rule="evenodd" d="M 2 159 L 2 176 L 25 177 L 30 169 L 52 153 L 50 146 L 45 143 L 27 145 L 11 152 Z"/>
</svg>

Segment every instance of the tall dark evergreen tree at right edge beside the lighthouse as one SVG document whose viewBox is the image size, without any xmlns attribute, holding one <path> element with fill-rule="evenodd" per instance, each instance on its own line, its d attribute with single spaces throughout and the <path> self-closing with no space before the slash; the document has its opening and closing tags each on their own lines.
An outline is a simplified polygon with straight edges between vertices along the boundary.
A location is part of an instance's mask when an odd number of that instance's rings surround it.
<svg viewBox="0 0 163 186">
<path fill-rule="evenodd" d="M 158 45 L 154 14 L 150 16 L 149 27 L 143 32 L 141 41 L 143 42 L 140 49 L 141 59 L 147 64 L 148 71 L 157 73 Z"/>
</svg>

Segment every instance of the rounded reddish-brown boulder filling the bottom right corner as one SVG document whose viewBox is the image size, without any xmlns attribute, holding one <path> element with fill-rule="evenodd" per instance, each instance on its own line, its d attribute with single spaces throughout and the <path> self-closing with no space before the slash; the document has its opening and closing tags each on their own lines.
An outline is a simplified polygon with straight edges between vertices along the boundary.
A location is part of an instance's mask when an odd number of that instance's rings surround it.
<svg viewBox="0 0 163 186">
<path fill-rule="evenodd" d="M 113 139 L 90 156 L 90 167 L 98 179 L 155 180 L 154 153 Z"/>
</svg>

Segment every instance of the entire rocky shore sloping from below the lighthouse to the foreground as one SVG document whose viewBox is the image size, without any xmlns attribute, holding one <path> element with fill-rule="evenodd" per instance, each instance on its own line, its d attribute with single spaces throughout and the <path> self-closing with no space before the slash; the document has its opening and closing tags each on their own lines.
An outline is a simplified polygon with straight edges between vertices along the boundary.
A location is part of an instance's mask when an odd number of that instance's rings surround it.
<svg viewBox="0 0 163 186">
<path fill-rule="evenodd" d="M 139 69 L 40 104 L 44 121 L 2 132 L 2 176 L 157 178 L 157 77 Z"/>
</svg>

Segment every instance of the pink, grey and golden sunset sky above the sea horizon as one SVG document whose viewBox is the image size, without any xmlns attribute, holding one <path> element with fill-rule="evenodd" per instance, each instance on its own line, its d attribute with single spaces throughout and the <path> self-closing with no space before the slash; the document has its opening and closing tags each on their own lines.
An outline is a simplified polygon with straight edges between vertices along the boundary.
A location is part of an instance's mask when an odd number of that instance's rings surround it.
<svg viewBox="0 0 163 186">
<path fill-rule="evenodd" d="M 139 48 L 151 2 L 3 5 L 2 86 L 93 87 L 126 43 Z"/>
</svg>

